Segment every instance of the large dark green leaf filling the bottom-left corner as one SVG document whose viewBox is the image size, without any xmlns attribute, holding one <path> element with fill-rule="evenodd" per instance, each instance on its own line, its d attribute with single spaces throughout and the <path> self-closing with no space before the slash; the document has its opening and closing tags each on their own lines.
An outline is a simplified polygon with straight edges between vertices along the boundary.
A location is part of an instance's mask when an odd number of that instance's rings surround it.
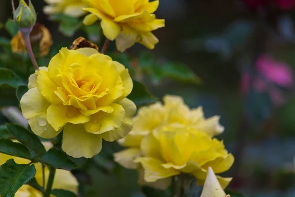
<svg viewBox="0 0 295 197">
<path fill-rule="evenodd" d="M 35 176 L 35 166 L 16 164 L 13 159 L 0 166 L 0 195 L 14 197 L 20 187 Z"/>
</svg>

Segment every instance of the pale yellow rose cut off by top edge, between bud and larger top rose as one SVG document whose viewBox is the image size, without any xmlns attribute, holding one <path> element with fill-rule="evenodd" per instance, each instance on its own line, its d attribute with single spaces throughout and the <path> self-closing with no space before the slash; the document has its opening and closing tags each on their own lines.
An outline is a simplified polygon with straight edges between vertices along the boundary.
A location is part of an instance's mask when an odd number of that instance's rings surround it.
<svg viewBox="0 0 295 197">
<path fill-rule="evenodd" d="M 48 15 L 63 13 L 71 17 L 79 17 L 86 12 L 82 10 L 86 7 L 82 0 L 45 0 L 49 5 L 44 6 L 43 12 Z"/>
</svg>

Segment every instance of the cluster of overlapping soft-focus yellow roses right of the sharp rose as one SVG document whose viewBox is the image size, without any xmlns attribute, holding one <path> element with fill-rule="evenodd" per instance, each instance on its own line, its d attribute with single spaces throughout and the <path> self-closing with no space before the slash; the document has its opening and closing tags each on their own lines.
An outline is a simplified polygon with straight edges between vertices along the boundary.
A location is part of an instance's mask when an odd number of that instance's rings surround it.
<svg viewBox="0 0 295 197">
<path fill-rule="evenodd" d="M 203 184 L 209 166 L 221 173 L 234 162 L 223 142 L 212 138 L 223 130 L 219 117 L 205 119 L 202 108 L 190 110 L 181 98 L 166 96 L 164 105 L 139 110 L 132 131 L 119 140 L 128 149 L 116 153 L 115 161 L 138 169 L 142 184 L 159 189 L 166 189 L 180 173 L 192 174 Z M 218 178 L 223 187 L 231 180 Z"/>
</svg>

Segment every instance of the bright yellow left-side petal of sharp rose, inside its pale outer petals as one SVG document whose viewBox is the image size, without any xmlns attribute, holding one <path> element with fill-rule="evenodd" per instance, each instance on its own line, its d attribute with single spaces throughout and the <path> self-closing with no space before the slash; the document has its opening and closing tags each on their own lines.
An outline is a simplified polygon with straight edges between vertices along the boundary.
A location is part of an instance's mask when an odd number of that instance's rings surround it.
<svg viewBox="0 0 295 197">
<path fill-rule="evenodd" d="M 46 70 L 38 71 L 37 88 L 41 95 L 50 103 L 61 104 L 61 100 L 54 93 L 54 91 L 57 91 L 57 85 L 49 78 Z"/>
</svg>

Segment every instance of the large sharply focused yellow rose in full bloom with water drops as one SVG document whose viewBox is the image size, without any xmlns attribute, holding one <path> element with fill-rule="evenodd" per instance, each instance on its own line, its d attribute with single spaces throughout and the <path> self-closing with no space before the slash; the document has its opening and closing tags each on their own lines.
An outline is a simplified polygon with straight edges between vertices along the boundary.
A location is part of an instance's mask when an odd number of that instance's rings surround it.
<svg viewBox="0 0 295 197">
<path fill-rule="evenodd" d="M 47 67 L 29 77 L 21 108 L 31 130 L 53 138 L 63 130 L 62 149 L 91 158 L 102 138 L 115 141 L 131 131 L 135 104 L 128 69 L 93 48 L 62 48 Z"/>
</svg>

